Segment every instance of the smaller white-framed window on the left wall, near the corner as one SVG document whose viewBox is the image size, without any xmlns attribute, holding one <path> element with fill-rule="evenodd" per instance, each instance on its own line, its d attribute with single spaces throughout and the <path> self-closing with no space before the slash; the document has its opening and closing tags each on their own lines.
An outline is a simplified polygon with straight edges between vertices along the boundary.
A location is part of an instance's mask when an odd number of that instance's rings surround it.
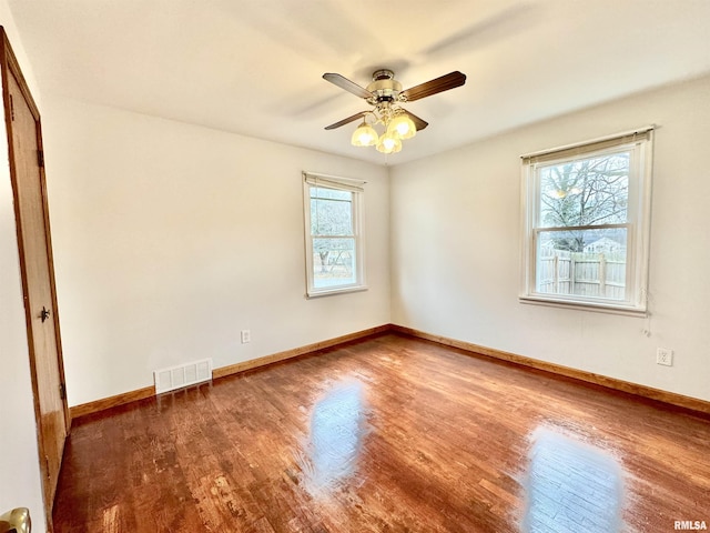
<svg viewBox="0 0 710 533">
<path fill-rule="evenodd" d="M 362 181 L 304 172 L 307 295 L 366 289 Z"/>
</svg>

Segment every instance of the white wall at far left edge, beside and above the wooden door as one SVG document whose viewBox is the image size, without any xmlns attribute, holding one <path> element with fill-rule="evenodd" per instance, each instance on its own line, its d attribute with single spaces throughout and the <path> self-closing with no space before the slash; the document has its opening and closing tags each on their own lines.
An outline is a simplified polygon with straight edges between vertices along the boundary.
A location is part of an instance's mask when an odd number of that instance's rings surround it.
<svg viewBox="0 0 710 533">
<path fill-rule="evenodd" d="M 33 97 L 39 100 L 31 66 L 4 0 L 0 1 L 0 23 Z M 2 124 L 3 109 L 0 105 Z M 28 507 L 34 531 L 42 531 L 45 516 L 4 128 L 0 133 L 0 514 L 14 507 Z"/>
</svg>

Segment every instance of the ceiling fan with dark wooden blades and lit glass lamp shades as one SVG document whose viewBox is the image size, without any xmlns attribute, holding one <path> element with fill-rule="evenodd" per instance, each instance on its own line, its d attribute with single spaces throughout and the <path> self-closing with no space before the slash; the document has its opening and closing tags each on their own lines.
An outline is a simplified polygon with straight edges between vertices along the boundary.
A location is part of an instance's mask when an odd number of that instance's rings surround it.
<svg viewBox="0 0 710 533">
<path fill-rule="evenodd" d="M 466 74 L 459 71 L 449 72 L 434 80 L 402 90 L 402 83 L 395 80 L 392 70 L 381 69 L 373 72 L 373 81 L 367 88 L 361 87 L 344 76 L 326 72 L 323 79 L 364 99 L 373 109 L 361 111 L 347 119 L 339 120 L 326 130 L 334 130 L 358 119 L 363 122 L 353 133 L 351 142 L 356 147 L 376 147 L 383 153 L 395 153 L 402 150 L 402 140 L 410 139 L 418 130 L 429 125 L 417 115 L 406 111 L 402 103 L 413 102 L 439 92 L 448 91 L 466 83 Z M 369 120 L 369 122 L 368 122 Z M 379 134 L 374 125 L 382 124 L 385 132 Z"/>
</svg>

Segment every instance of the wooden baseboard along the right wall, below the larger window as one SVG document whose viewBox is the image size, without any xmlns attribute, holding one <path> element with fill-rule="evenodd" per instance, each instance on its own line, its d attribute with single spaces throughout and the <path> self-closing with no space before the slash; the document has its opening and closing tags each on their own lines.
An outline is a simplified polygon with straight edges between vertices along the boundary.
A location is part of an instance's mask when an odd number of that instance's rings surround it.
<svg viewBox="0 0 710 533">
<path fill-rule="evenodd" d="M 564 366 L 556 363 L 548 363 L 537 359 L 518 355 L 516 353 L 504 352 L 501 350 L 495 350 L 493 348 L 481 346 L 479 344 L 474 344 L 470 342 L 449 339 L 442 335 L 435 335 L 433 333 L 427 333 L 425 331 L 419 331 L 412 328 L 405 328 L 403 325 L 392 324 L 389 331 L 408 336 L 414 336 L 417 339 L 433 341 L 446 346 L 458 348 L 473 354 L 485 355 L 493 359 L 508 361 L 510 363 L 519 364 L 523 366 L 541 370 L 544 372 L 550 372 L 552 374 L 572 378 L 575 380 L 592 383 L 595 385 L 606 386 L 607 389 L 627 392 L 637 396 L 656 400 L 670 405 L 674 405 L 677 408 L 682 408 L 710 415 L 710 402 L 700 400 L 698 398 L 686 396 L 683 394 L 678 394 L 674 392 L 653 389 L 652 386 L 640 385 L 638 383 L 631 383 L 629 381 L 618 380 L 616 378 L 609 378 L 607 375 L 595 374 L 594 372 L 572 369 L 570 366 Z"/>
</svg>

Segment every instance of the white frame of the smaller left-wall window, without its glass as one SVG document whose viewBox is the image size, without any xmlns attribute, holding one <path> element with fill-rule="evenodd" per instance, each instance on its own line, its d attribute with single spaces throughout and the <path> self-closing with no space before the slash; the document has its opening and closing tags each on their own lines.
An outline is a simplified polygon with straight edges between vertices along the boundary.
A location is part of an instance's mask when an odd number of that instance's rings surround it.
<svg viewBox="0 0 710 533">
<path fill-rule="evenodd" d="M 327 174 L 317 174 L 314 172 L 303 172 L 303 205 L 304 205 L 304 228 L 305 228 L 305 250 L 306 250 L 306 298 L 318 298 L 331 294 L 341 294 L 346 292 L 356 292 L 367 290 L 365 283 L 365 235 L 363 217 L 365 212 L 365 181 L 352 180 L 349 178 L 339 178 Z M 316 288 L 314 280 L 313 263 L 313 241 L 324 235 L 314 235 L 311 233 L 311 188 L 334 189 L 337 191 L 348 191 L 353 193 L 353 234 L 339 235 L 352 238 L 355 241 L 355 282 L 335 286 Z M 328 238 L 333 238 L 327 235 Z M 335 237 L 337 238 L 337 237 Z"/>
</svg>

